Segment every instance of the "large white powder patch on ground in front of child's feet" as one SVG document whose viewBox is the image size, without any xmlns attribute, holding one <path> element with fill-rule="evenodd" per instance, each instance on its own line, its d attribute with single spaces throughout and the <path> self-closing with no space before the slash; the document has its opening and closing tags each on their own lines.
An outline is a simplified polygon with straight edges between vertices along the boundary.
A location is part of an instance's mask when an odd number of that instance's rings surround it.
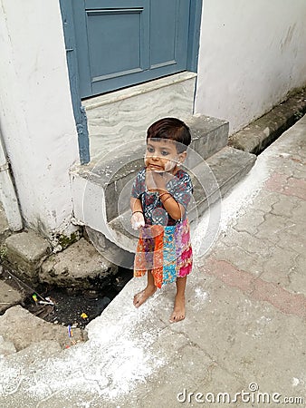
<svg viewBox="0 0 306 408">
<path fill-rule="evenodd" d="M 79 391 L 91 393 L 93 400 L 104 397 L 107 401 L 146 383 L 147 378 L 166 363 L 149 347 L 158 338 L 158 328 L 151 333 L 149 321 L 153 319 L 159 296 L 154 304 L 148 302 L 138 310 L 132 305 L 131 294 L 142 283 L 130 283 L 129 304 L 123 310 L 124 296 L 114 299 L 109 310 L 91 321 L 87 343 L 45 360 L 33 361 L 30 366 L 22 360 L 12 364 L 0 358 L 0 401 L 18 393 L 23 394 L 25 400 L 30 397 L 43 406 L 58 393 L 68 401 Z"/>
</svg>

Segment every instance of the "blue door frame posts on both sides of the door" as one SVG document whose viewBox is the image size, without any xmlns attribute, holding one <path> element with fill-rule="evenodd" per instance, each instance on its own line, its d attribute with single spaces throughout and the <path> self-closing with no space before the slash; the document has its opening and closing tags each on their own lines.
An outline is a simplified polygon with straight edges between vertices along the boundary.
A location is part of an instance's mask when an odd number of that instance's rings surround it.
<svg viewBox="0 0 306 408">
<path fill-rule="evenodd" d="M 90 141 L 87 127 L 87 117 L 84 107 L 81 105 L 80 79 L 78 73 L 77 50 L 73 23 L 72 1 L 59 0 L 62 13 L 62 28 L 66 48 L 66 58 L 69 73 L 70 89 L 72 94 L 72 108 L 74 120 L 78 132 L 79 152 L 81 164 L 89 163 Z M 188 33 L 187 46 L 187 71 L 197 72 L 200 27 L 203 0 L 190 0 L 189 27 L 193 27 Z"/>
</svg>

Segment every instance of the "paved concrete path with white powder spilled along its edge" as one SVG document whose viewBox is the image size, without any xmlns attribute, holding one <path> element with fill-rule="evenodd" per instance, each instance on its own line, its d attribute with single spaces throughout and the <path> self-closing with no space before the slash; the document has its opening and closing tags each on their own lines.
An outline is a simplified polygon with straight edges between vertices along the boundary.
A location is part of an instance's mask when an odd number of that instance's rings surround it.
<svg viewBox="0 0 306 408">
<path fill-rule="evenodd" d="M 85 344 L 0 358 L 0 407 L 305 406 L 305 162 L 306 116 L 201 220 L 185 321 L 132 279 Z"/>
</svg>

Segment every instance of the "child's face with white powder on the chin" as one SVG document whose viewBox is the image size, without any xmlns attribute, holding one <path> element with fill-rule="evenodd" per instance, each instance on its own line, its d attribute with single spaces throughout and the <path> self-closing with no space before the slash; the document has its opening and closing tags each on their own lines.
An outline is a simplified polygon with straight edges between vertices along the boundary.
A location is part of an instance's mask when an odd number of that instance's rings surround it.
<svg viewBox="0 0 306 408">
<path fill-rule="evenodd" d="M 177 152 L 175 141 L 168 139 L 148 139 L 145 165 L 152 171 L 174 172 L 177 164 L 186 159 L 186 151 Z"/>
</svg>

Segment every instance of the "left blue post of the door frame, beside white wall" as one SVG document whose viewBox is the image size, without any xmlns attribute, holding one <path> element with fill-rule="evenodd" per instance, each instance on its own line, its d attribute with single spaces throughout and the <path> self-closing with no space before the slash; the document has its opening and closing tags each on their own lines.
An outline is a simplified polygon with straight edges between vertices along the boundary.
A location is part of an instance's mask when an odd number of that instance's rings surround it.
<svg viewBox="0 0 306 408">
<path fill-rule="evenodd" d="M 60 0 L 60 7 L 62 13 L 62 29 L 66 48 L 70 90 L 72 96 L 72 110 L 76 130 L 78 133 L 80 162 L 81 164 L 87 164 L 91 161 L 90 139 L 87 126 L 87 116 L 85 108 L 81 105 L 81 93 L 79 90 L 79 73 L 73 25 L 72 0 Z"/>
</svg>

